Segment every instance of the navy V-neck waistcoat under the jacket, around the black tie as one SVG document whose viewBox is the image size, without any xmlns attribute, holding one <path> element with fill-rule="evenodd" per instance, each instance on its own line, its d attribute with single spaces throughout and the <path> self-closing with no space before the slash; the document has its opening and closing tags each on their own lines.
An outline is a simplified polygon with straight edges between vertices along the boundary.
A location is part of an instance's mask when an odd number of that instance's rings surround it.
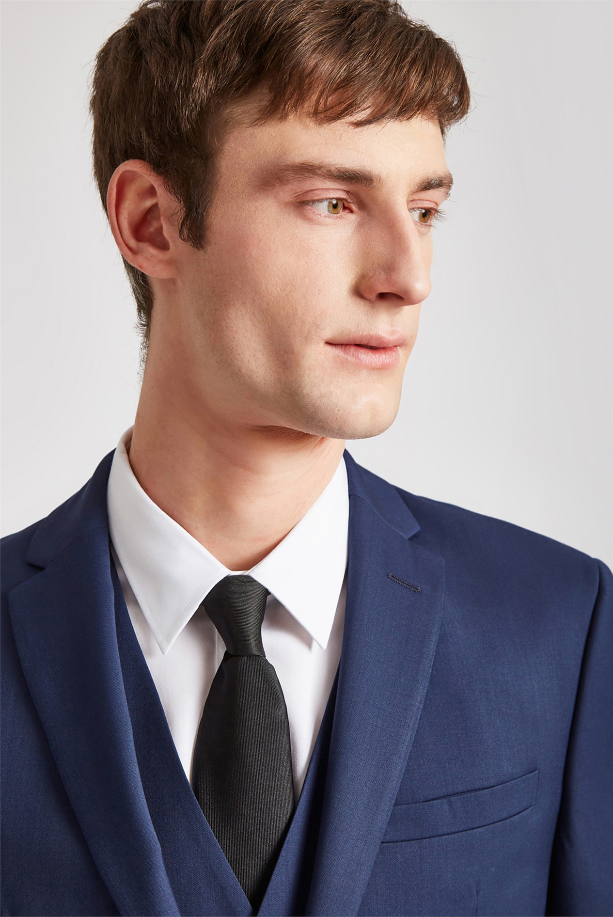
<svg viewBox="0 0 613 917">
<path fill-rule="evenodd" d="M 177 754 L 158 691 L 138 645 L 115 565 L 117 645 L 138 769 L 148 811 L 179 911 L 184 917 L 254 911 L 204 818 Z M 338 670 L 301 796 L 258 914 L 305 913 L 311 887 Z"/>
</svg>

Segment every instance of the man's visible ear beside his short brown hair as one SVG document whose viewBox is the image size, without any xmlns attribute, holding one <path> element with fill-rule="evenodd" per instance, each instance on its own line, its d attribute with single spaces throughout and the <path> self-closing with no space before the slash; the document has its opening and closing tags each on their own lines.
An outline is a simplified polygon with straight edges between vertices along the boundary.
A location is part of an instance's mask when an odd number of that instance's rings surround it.
<svg viewBox="0 0 613 917">
<path fill-rule="evenodd" d="M 106 192 L 113 238 L 126 261 L 150 277 L 176 276 L 177 206 L 148 162 L 126 160 L 113 172 Z"/>
</svg>

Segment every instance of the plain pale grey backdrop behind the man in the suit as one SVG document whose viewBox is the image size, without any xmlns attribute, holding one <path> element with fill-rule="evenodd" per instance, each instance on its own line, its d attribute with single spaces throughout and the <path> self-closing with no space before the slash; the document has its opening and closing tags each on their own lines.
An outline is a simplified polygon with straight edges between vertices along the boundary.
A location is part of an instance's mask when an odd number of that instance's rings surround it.
<svg viewBox="0 0 613 917">
<path fill-rule="evenodd" d="M 5 2 L 2 532 L 78 490 L 133 423 L 136 309 L 92 177 L 93 58 L 136 6 Z M 447 220 L 400 412 L 347 443 L 405 490 L 613 564 L 612 6 L 410 2 L 452 41 Z"/>
</svg>

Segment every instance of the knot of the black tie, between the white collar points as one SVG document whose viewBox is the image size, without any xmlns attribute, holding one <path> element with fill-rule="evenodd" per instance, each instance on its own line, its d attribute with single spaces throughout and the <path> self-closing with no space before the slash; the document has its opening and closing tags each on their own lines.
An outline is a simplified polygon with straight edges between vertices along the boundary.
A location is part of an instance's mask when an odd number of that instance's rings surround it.
<svg viewBox="0 0 613 917">
<path fill-rule="evenodd" d="M 203 601 L 231 656 L 266 656 L 262 621 L 268 589 L 246 573 L 226 576 Z"/>
</svg>

